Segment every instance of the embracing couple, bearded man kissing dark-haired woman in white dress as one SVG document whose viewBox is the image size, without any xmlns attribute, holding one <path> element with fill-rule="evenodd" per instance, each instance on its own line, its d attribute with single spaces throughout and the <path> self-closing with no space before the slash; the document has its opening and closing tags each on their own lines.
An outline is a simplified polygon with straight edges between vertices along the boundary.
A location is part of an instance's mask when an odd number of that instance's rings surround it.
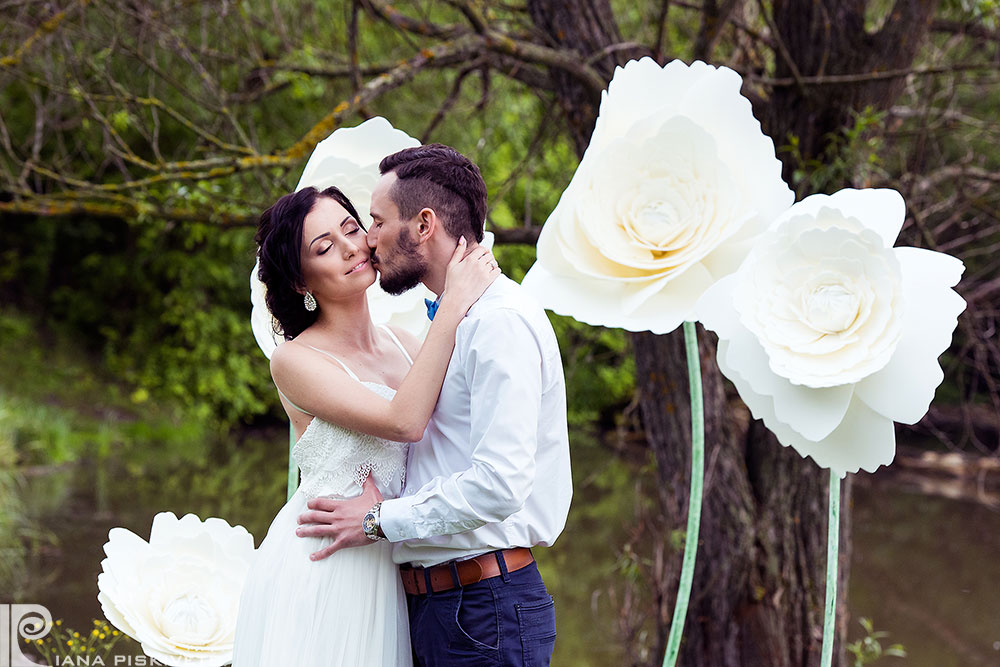
<svg viewBox="0 0 1000 667">
<path fill-rule="evenodd" d="M 233 665 L 547 665 L 555 611 L 531 548 L 572 496 L 555 334 L 480 245 L 474 163 L 431 144 L 379 170 L 367 230 L 335 187 L 260 217 L 301 484 L 257 549 Z M 376 273 L 438 295 L 422 344 L 372 322 Z"/>
</svg>

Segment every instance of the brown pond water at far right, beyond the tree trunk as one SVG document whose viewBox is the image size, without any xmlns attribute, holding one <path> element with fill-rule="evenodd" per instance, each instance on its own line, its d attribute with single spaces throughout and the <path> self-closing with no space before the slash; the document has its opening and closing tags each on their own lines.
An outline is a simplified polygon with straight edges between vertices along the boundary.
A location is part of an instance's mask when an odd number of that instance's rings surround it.
<svg viewBox="0 0 1000 667">
<path fill-rule="evenodd" d="M 854 487 L 853 618 L 906 647 L 886 663 L 1000 665 L 1000 512 L 888 486 L 885 473 Z"/>
</svg>

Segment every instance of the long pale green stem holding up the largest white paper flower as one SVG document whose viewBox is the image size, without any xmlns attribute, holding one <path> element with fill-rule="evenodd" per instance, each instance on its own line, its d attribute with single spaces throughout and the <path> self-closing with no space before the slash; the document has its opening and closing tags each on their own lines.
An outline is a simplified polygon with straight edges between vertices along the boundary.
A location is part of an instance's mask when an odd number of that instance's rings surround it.
<svg viewBox="0 0 1000 667">
<path fill-rule="evenodd" d="M 684 619 L 687 617 L 694 563 L 698 555 L 698 529 L 701 526 L 702 479 L 705 475 L 705 404 L 701 393 L 701 360 L 694 322 L 684 323 L 684 349 L 687 353 L 688 384 L 691 388 L 691 497 L 688 500 L 688 527 L 684 536 L 684 560 L 681 581 L 677 586 L 674 618 L 670 622 L 663 667 L 673 667 L 681 650 Z"/>
</svg>

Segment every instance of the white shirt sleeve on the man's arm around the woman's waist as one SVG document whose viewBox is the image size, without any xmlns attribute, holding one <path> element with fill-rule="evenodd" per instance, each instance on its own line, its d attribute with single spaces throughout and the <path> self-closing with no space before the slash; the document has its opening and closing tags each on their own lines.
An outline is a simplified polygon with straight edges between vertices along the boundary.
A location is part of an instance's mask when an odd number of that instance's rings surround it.
<svg viewBox="0 0 1000 667">
<path fill-rule="evenodd" d="M 456 344 L 471 396 L 471 466 L 382 504 L 393 542 L 499 523 L 519 511 L 535 482 L 542 353 L 516 310 L 500 308 L 460 329 Z M 459 341 L 461 342 L 461 341 Z"/>
</svg>

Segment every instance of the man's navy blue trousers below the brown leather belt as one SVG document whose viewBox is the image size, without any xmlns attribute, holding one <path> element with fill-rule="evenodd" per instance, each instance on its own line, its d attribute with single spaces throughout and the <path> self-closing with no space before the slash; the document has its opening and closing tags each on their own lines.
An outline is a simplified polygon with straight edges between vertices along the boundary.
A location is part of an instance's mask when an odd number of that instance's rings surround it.
<svg viewBox="0 0 1000 667">
<path fill-rule="evenodd" d="M 414 664 L 548 665 L 556 641 L 552 596 L 534 563 L 462 588 L 407 595 Z"/>
</svg>

